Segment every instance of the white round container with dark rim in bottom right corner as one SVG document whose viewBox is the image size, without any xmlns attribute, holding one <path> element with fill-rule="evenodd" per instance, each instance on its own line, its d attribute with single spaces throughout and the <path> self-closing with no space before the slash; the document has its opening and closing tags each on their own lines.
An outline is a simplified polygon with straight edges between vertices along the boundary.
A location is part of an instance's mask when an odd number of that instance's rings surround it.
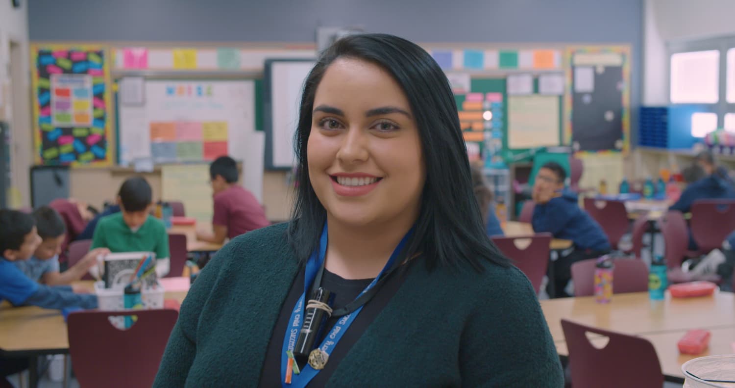
<svg viewBox="0 0 735 388">
<path fill-rule="evenodd" d="M 735 387 L 735 354 L 692 359 L 681 365 L 681 372 L 686 378 L 684 388 L 732 388 Z"/>
</svg>

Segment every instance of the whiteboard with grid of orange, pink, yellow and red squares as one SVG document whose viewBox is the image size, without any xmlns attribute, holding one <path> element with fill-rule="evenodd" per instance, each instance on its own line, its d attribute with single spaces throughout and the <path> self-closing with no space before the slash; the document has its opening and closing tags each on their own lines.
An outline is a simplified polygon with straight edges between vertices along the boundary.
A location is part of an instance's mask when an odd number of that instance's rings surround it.
<svg viewBox="0 0 735 388">
<path fill-rule="evenodd" d="M 119 91 L 122 166 L 262 155 L 248 142 L 255 131 L 254 82 L 129 81 L 121 80 Z"/>
</svg>

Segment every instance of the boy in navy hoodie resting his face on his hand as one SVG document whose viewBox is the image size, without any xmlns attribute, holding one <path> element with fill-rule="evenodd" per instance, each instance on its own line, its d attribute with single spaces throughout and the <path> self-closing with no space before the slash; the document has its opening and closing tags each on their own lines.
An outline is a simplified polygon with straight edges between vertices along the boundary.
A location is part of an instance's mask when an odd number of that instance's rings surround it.
<svg viewBox="0 0 735 388">
<path fill-rule="evenodd" d="M 577 261 L 598 258 L 610 251 L 610 243 L 602 227 L 586 211 L 579 208 L 577 194 L 564 188 L 567 172 L 556 162 L 539 169 L 532 194 L 536 207 L 531 224 L 536 233 L 551 233 L 555 239 L 573 241 L 573 247 L 553 261 L 554 279 L 549 279 L 547 292 L 553 297 L 570 296 L 564 291 L 571 267 Z"/>
</svg>

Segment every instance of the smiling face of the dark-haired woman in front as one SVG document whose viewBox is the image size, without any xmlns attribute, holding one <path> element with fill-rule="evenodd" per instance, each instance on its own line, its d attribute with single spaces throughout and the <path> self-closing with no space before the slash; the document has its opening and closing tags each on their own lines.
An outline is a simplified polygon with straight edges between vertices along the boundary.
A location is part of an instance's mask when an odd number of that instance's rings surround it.
<svg viewBox="0 0 735 388">
<path fill-rule="evenodd" d="M 343 225 L 415 221 L 426 180 L 416 121 L 387 71 L 340 58 L 317 87 L 306 149 L 309 179 Z"/>
</svg>

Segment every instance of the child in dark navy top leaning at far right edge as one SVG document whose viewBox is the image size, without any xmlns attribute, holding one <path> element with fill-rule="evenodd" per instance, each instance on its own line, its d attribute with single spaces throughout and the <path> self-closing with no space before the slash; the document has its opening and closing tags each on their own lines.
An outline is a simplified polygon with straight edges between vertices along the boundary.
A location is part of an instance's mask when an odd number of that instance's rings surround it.
<svg viewBox="0 0 735 388">
<path fill-rule="evenodd" d="M 706 177 L 686 186 L 681 197 L 671 205 L 670 210 L 689 213 L 692 210 L 692 203 L 697 200 L 735 199 L 734 183 L 727 169 L 717 166 L 711 152 L 700 152 L 695 158 L 695 163 L 704 170 Z"/>
</svg>

